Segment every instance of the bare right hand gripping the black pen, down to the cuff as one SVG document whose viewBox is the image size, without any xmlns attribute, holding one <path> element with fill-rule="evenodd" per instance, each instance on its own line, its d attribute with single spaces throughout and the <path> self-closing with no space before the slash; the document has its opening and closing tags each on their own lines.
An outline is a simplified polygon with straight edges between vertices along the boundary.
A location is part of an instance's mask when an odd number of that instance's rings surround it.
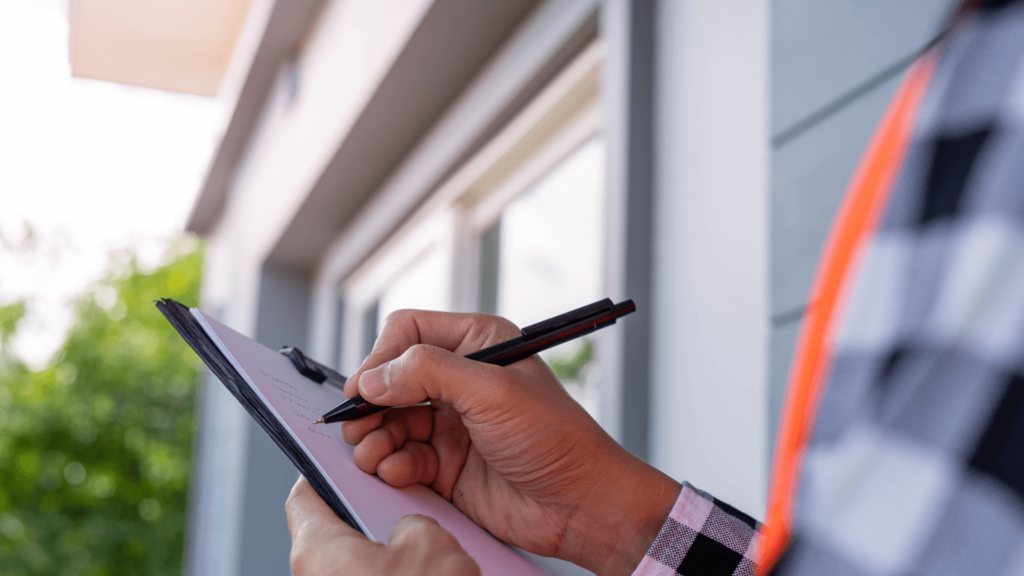
<svg viewBox="0 0 1024 576">
<path fill-rule="evenodd" d="M 521 336 L 494 316 L 396 313 L 346 395 L 400 407 L 343 422 L 342 436 L 359 469 L 428 486 L 506 542 L 629 573 L 680 486 L 618 446 L 537 356 L 465 358 Z"/>
</svg>

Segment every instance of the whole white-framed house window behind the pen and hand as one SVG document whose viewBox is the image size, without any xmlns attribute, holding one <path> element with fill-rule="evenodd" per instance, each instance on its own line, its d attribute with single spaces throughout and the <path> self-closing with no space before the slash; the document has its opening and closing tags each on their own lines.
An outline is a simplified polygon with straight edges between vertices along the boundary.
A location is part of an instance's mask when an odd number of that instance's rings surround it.
<svg viewBox="0 0 1024 576">
<path fill-rule="evenodd" d="M 569 65 L 342 283 L 343 370 L 404 307 L 480 311 L 526 326 L 605 296 L 600 46 Z M 599 414 L 600 333 L 542 355 Z"/>
</svg>

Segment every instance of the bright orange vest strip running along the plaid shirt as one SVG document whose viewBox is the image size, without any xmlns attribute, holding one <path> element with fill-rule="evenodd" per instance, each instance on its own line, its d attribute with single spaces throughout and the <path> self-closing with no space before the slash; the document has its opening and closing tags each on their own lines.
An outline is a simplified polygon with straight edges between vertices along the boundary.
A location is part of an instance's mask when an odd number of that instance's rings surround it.
<svg viewBox="0 0 1024 576">
<path fill-rule="evenodd" d="M 811 307 L 801 326 L 780 418 L 768 493 L 767 533 L 758 563 L 762 575 L 774 569 L 788 545 L 800 468 L 827 380 L 829 346 L 841 319 L 845 291 L 887 204 L 936 64 L 936 54 L 928 53 L 907 73 L 861 158 L 828 234 L 811 289 Z"/>
</svg>

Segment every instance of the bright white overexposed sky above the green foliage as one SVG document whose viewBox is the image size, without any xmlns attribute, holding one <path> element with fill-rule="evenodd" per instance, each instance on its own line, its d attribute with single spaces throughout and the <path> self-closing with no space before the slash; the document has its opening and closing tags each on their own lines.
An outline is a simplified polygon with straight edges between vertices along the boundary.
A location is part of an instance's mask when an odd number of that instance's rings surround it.
<svg viewBox="0 0 1024 576">
<path fill-rule="evenodd" d="M 28 299 L 15 351 L 39 365 L 112 251 L 155 265 L 181 234 L 224 111 L 72 78 L 67 0 L 0 0 L 0 303 Z"/>
</svg>

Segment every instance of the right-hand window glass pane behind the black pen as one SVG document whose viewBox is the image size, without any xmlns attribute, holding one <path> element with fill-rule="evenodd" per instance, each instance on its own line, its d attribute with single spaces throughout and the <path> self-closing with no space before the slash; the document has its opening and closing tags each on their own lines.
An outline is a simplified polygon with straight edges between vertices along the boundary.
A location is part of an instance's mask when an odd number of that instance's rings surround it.
<svg viewBox="0 0 1024 576">
<path fill-rule="evenodd" d="M 502 212 L 498 314 L 526 326 L 604 297 L 604 158 L 603 138 L 589 140 Z M 542 356 L 596 416 L 593 337 Z"/>
</svg>

